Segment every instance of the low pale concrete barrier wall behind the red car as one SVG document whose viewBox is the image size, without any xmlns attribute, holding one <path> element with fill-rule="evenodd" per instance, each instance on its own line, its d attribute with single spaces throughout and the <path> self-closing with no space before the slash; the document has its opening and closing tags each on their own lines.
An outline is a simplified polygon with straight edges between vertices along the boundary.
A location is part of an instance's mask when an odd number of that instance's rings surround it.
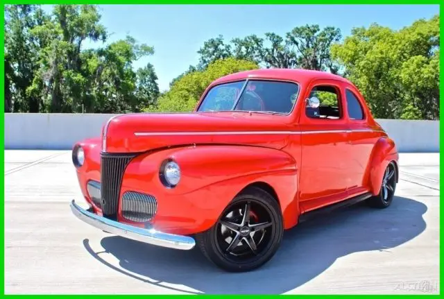
<svg viewBox="0 0 444 299">
<path fill-rule="evenodd" d="M 5 114 L 6 149 L 71 149 L 79 140 L 99 137 L 114 114 Z M 377 119 L 400 152 L 438 152 L 439 121 Z"/>
</svg>

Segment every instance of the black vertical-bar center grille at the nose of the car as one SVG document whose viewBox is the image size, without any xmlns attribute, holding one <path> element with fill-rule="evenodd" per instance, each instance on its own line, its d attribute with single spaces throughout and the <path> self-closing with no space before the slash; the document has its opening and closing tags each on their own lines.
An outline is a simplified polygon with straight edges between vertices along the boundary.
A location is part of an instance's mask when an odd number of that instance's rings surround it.
<svg viewBox="0 0 444 299">
<path fill-rule="evenodd" d="M 101 204 L 103 216 L 108 219 L 117 219 L 123 172 L 134 156 L 108 153 L 101 155 Z"/>
</svg>

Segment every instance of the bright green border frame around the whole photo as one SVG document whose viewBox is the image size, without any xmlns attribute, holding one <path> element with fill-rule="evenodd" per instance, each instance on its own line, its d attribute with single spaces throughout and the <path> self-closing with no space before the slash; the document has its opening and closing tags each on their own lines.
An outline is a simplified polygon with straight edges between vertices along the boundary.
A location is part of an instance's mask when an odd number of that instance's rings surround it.
<svg viewBox="0 0 444 299">
<path fill-rule="evenodd" d="M 1 52 L 0 52 L 0 58 L 2 61 L 4 61 L 4 11 L 5 11 L 5 5 L 7 4 L 398 4 L 398 5 L 402 5 L 402 4 L 438 4 L 440 6 L 440 15 L 444 12 L 444 2 L 440 1 L 440 0 L 28 0 L 28 1 L 24 1 L 24 0 L 5 0 L 2 1 L 3 3 L 1 3 L 1 8 L 2 8 L 2 13 L 0 16 L 0 26 L 1 26 L 1 32 L 0 32 L 0 43 L 1 43 Z M 443 23 L 440 23 L 440 30 L 443 29 Z M 440 39 L 440 47 L 443 46 L 443 40 Z M 440 57 L 440 69 L 443 68 L 444 65 L 444 60 L 442 58 L 442 56 Z M 4 63 L 0 64 L 0 73 L 4 74 Z M 440 71 L 440 94 L 443 93 L 443 74 Z M 0 109 L 3 111 L 3 113 L 0 114 L 0 120 L 3 123 L 3 128 L 5 128 L 4 125 L 4 76 L 2 75 L 0 77 L 0 94 L 2 97 L 2 100 L 0 101 Z M 440 96 L 440 107 L 442 107 L 443 105 L 443 99 Z M 443 117 L 443 113 L 442 110 L 440 110 L 440 119 Z M 440 123 L 440 148 L 443 146 L 443 139 L 441 138 L 441 132 L 443 129 L 443 126 Z M 6 128 L 5 128 L 6 129 Z M 0 158 L 1 160 L 3 160 L 3 163 L 1 163 L 0 167 L 1 167 L 1 171 L 4 173 L 4 148 L 5 148 L 5 144 L 4 144 L 4 130 L 1 130 L 0 132 L 1 135 L 1 147 L 3 148 L 3 151 L 0 151 Z M 443 157 L 441 157 L 440 155 L 440 198 L 442 195 L 441 189 L 443 187 L 442 184 L 442 180 L 441 180 L 441 173 L 442 173 L 442 165 L 443 165 L 444 159 Z M 4 184 L 4 176 L 2 177 L 2 184 L 1 184 L 1 189 L 3 191 L 5 191 L 5 184 Z M 4 196 L 3 196 L 3 200 L 4 200 Z M 7 275 L 7 273 L 5 273 L 5 254 L 4 254 L 4 248 L 5 248 L 5 210 L 4 210 L 4 204 L 0 205 L 0 215 L 2 218 L 1 221 L 1 226 L 2 226 L 2 230 L 1 230 L 1 241 L 2 241 L 2 246 L 0 248 L 1 251 L 3 251 L 3 258 L 0 259 L 0 263 L 1 263 L 1 268 L 3 268 L 3 275 L 1 275 L 1 295 L 5 296 L 5 297 L 12 297 L 14 296 L 15 298 L 28 298 L 28 297 L 50 297 L 51 295 L 5 295 L 5 275 Z M 443 207 L 442 205 L 440 205 L 440 228 L 443 225 L 443 221 L 442 221 L 442 213 L 443 212 Z M 442 232 L 440 230 L 440 240 L 442 239 Z M 441 261 L 441 243 L 440 243 L 440 261 Z M 442 268 L 441 268 L 441 263 L 440 263 L 440 277 L 439 277 L 439 282 L 440 282 L 440 295 L 441 295 L 441 272 L 442 272 Z M 85 293 L 87 293 L 87 290 L 85 290 Z M 355 297 L 366 297 L 366 298 L 381 298 L 381 296 L 384 296 L 384 298 L 398 298 L 399 296 L 404 296 L 404 297 L 415 297 L 417 298 L 417 296 L 432 296 L 433 297 L 439 297 L 440 295 L 287 295 L 287 296 L 304 296 L 304 297 L 309 297 L 309 298 L 324 298 L 324 297 L 330 297 L 330 298 L 343 298 L 345 296 L 347 297 L 351 297 L 351 298 L 355 298 Z M 117 296 L 121 297 L 121 296 L 149 296 L 149 297 L 153 297 L 153 298 L 161 298 L 163 296 L 172 296 L 172 297 L 182 297 L 182 296 L 189 296 L 189 295 L 149 295 L 149 294 L 145 294 L 145 295 L 56 295 L 56 296 L 63 296 L 63 297 L 74 297 L 74 298 L 85 298 L 85 297 L 97 297 L 100 296 L 102 298 L 115 298 Z M 211 296 L 214 298 L 224 298 L 225 295 L 204 295 L 204 296 Z M 227 295 L 230 296 L 230 298 L 241 298 L 241 297 L 245 297 L 246 295 Z M 254 296 L 250 296 L 251 298 L 264 298 L 264 297 L 276 297 L 279 295 L 254 295 Z"/>
</svg>

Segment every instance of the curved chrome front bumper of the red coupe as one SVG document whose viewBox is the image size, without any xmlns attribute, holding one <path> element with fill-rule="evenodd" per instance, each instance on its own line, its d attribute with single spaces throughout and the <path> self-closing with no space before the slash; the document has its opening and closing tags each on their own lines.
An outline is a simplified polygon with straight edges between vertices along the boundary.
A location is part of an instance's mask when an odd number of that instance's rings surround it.
<svg viewBox="0 0 444 299">
<path fill-rule="evenodd" d="M 71 201 L 71 211 L 81 221 L 99 228 L 99 230 L 105 230 L 118 236 L 133 239 L 135 241 L 141 241 L 147 244 L 162 246 L 181 250 L 190 250 L 194 248 L 196 242 L 191 237 L 180 236 L 178 234 L 167 234 L 164 232 L 157 232 L 155 229 L 137 228 L 133 225 L 119 223 L 112 221 L 105 217 L 96 215 L 92 212 L 88 212 L 82 207 L 76 205 L 74 200 Z"/>
</svg>

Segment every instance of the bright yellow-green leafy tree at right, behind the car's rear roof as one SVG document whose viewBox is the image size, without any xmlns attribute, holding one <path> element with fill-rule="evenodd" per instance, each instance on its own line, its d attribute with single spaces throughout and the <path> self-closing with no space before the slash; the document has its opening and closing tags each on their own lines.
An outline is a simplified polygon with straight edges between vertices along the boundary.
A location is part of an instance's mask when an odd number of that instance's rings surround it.
<svg viewBox="0 0 444 299">
<path fill-rule="evenodd" d="M 439 118 L 439 16 L 393 31 L 354 28 L 333 58 L 378 118 Z"/>
</svg>

